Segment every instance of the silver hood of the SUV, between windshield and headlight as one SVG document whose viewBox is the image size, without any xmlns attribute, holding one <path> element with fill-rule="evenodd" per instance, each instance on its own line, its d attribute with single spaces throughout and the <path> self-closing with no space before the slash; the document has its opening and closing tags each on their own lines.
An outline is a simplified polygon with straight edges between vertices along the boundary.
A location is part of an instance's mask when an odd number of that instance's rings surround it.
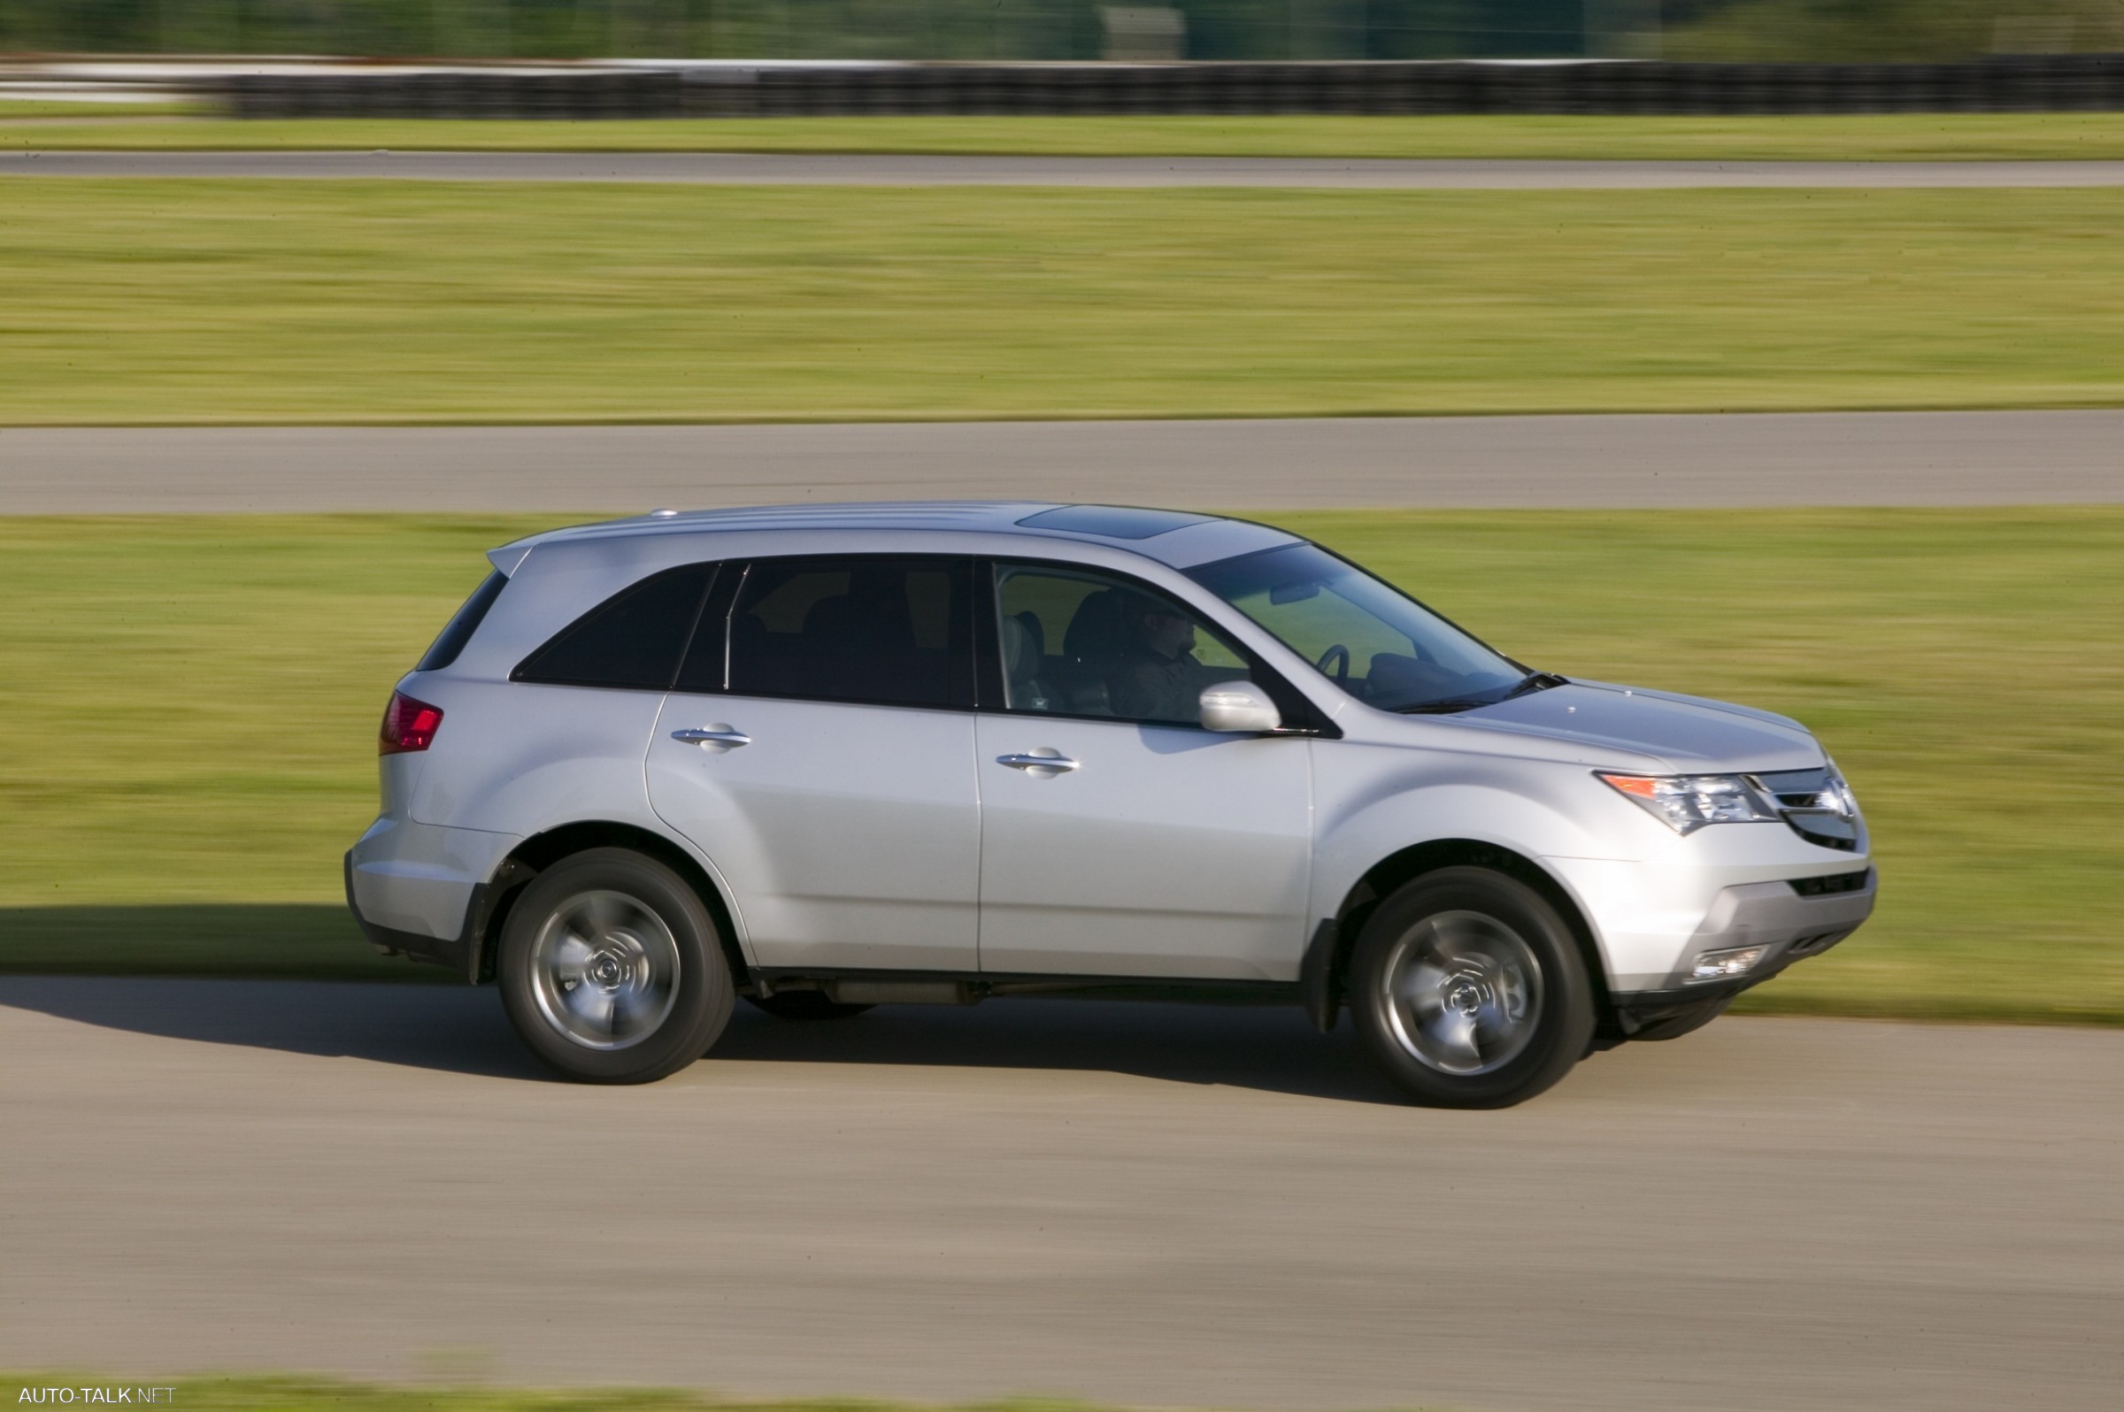
<svg viewBox="0 0 2124 1412">
<path fill-rule="evenodd" d="M 1572 682 L 1446 716 L 1461 726 L 1570 741 L 1587 752 L 1652 756 L 1674 775 L 1814 769 L 1820 743 L 1797 720 L 1752 707 Z M 1633 760 L 1616 760 L 1638 769 Z"/>
</svg>

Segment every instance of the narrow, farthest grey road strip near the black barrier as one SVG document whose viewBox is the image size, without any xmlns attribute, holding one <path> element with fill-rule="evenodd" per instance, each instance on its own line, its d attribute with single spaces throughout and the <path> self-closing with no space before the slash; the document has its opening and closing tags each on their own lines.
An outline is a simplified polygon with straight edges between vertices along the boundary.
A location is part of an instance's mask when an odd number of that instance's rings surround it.
<svg viewBox="0 0 2124 1412">
<path fill-rule="evenodd" d="M 796 187 L 2118 187 L 2124 161 L 1544 161 L 839 153 L 0 153 L 0 176 L 376 176 Z"/>
</svg>

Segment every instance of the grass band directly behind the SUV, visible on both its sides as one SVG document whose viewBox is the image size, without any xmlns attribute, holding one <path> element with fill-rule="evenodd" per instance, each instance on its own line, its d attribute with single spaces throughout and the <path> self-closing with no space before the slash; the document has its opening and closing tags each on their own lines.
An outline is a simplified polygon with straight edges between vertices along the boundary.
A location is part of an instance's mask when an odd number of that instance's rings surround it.
<svg viewBox="0 0 2124 1412">
<path fill-rule="evenodd" d="M 1822 735 L 1880 911 L 1746 1009 L 2124 1023 L 2124 507 L 1272 518 L 1540 667 Z M 365 958 L 340 851 L 391 682 L 546 522 L 0 520 L 0 968 L 429 975 Z"/>
</svg>

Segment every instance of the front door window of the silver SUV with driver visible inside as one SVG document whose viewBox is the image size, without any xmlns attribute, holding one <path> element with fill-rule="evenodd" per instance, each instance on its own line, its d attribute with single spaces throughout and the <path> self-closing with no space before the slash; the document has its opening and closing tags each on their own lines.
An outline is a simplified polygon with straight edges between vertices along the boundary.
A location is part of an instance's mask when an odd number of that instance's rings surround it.
<svg viewBox="0 0 2124 1412">
<path fill-rule="evenodd" d="M 1011 711 L 1192 726 L 1204 686 L 1253 679 L 1200 616 L 1092 571 L 998 565 L 996 641 Z"/>
</svg>

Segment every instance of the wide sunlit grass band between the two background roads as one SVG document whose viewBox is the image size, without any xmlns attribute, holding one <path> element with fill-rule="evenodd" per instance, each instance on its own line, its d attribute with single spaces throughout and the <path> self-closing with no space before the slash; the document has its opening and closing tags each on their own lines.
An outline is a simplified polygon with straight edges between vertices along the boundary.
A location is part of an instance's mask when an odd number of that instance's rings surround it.
<svg viewBox="0 0 2124 1412">
<path fill-rule="evenodd" d="M 0 191 L 15 425 L 2124 399 L 2124 189 Z"/>
</svg>

